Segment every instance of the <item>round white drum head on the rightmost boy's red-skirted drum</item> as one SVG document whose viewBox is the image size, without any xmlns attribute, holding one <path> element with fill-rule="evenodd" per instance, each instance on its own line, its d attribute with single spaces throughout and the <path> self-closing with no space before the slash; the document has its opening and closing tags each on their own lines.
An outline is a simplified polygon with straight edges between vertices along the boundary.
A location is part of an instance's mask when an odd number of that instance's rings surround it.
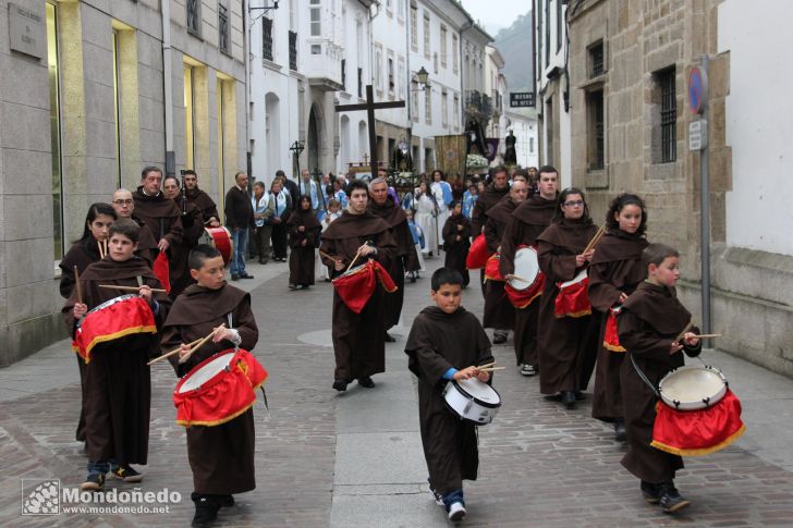
<svg viewBox="0 0 793 528">
<path fill-rule="evenodd" d="M 664 376 L 658 389 L 670 407 L 701 409 L 724 397 L 727 380 L 717 368 L 688 365 Z"/>
</svg>

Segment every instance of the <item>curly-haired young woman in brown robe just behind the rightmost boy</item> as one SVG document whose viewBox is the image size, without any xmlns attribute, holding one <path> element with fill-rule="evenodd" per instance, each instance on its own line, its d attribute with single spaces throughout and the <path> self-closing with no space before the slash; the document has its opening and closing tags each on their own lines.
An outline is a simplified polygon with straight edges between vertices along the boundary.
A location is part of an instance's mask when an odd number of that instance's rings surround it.
<svg viewBox="0 0 793 528">
<path fill-rule="evenodd" d="M 621 306 L 647 274 L 642 265 L 642 250 L 647 247 L 644 236 L 647 211 L 642 198 L 631 194 L 614 198 L 606 213 L 606 225 L 608 231 L 589 265 L 587 292 L 593 309 L 601 314 L 591 416 L 613 422 L 617 441 L 624 442 L 620 366 L 625 354 L 624 349 L 612 351 L 603 346 L 603 335 L 609 310 Z"/>
</svg>

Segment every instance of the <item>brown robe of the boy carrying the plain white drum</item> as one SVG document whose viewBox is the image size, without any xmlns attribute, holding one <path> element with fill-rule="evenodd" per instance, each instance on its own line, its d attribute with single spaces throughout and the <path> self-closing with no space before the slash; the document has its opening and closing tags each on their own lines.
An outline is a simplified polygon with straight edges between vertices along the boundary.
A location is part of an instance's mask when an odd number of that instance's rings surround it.
<svg viewBox="0 0 793 528">
<path fill-rule="evenodd" d="M 447 408 L 443 373 L 491 363 L 490 341 L 465 308 L 446 314 L 430 306 L 414 319 L 405 353 L 407 368 L 418 377 L 418 423 L 429 484 L 440 494 L 462 490 L 463 479 L 476 480 L 479 467 L 476 426 Z"/>
</svg>

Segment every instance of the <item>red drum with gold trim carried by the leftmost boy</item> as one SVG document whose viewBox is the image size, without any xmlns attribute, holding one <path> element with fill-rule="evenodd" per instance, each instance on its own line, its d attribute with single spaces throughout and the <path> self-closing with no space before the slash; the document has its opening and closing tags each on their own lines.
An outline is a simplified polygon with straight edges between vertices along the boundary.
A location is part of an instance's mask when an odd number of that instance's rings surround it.
<svg viewBox="0 0 793 528">
<path fill-rule="evenodd" d="M 96 345 L 136 333 L 157 333 L 155 315 L 137 294 L 121 295 L 91 308 L 77 321 L 72 349 L 87 364 Z"/>
</svg>

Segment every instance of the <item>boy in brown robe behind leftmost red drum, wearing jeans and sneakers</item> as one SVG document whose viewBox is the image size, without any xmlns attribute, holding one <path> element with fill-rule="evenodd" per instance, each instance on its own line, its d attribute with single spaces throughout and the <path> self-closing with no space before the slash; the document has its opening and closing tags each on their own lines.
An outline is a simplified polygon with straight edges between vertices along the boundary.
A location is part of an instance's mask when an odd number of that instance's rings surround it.
<svg viewBox="0 0 793 528">
<path fill-rule="evenodd" d="M 101 288 L 100 284 L 138 288 L 139 296 L 151 307 L 156 324 L 159 327 L 164 320 L 170 300 L 166 294 L 152 294 L 151 288 L 162 286 L 148 263 L 134 256 L 139 231 L 137 223 L 129 219 L 110 225 L 108 255 L 85 269 L 78 288 L 72 291 L 63 307 L 73 336 L 76 322 L 89 309 L 123 295 L 118 290 Z M 158 348 L 151 333 L 129 330 L 124 336 L 94 346 L 86 364 L 88 478 L 81 484 L 83 490 L 101 489 L 108 471 L 125 482 L 143 479 L 130 464 L 146 464 L 147 459 L 151 379 L 146 363 Z"/>
</svg>

